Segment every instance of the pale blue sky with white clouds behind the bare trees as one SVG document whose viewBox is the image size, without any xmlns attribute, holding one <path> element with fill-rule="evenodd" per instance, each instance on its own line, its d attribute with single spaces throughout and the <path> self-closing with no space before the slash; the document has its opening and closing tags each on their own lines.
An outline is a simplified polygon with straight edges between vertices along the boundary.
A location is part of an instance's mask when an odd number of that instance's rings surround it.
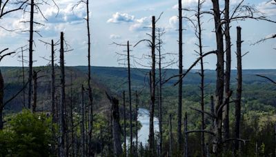
<svg viewBox="0 0 276 157">
<path fill-rule="evenodd" d="M 39 0 L 37 0 L 39 1 Z M 240 0 L 230 0 L 230 7 L 235 8 Z M 276 5 L 266 3 L 268 0 L 244 0 L 245 4 L 255 6 L 257 10 L 266 15 L 269 19 L 276 21 Z M 90 1 L 90 29 L 91 29 L 91 59 L 92 65 L 119 67 L 126 66 L 125 56 L 126 46 L 118 46 L 112 44 L 126 44 L 130 42 L 130 53 L 132 55 L 132 67 L 148 67 L 150 60 L 150 48 L 147 43 L 139 43 L 133 47 L 141 39 L 149 39 L 147 33 L 150 34 L 150 23 L 152 16 L 161 18 L 157 22 L 157 27 L 165 30 L 165 34 L 161 36 L 164 42 L 161 53 L 168 54 L 163 60 L 164 63 L 177 61 L 178 53 L 178 19 L 177 19 L 177 0 L 94 0 Z M 223 6 L 223 1 L 221 6 Z M 84 5 L 79 5 L 72 8 L 77 3 L 76 0 L 58 0 L 57 7 L 49 0 L 49 5 L 40 6 L 41 12 L 46 19 L 43 19 L 41 14 L 34 15 L 34 21 L 43 23 L 43 25 L 35 25 L 34 29 L 39 34 L 34 33 L 34 66 L 48 65 L 50 57 L 50 47 L 42 41 L 50 42 L 51 39 L 59 41 L 60 32 L 64 32 L 66 43 L 70 46 L 70 52 L 66 52 L 66 65 L 88 65 L 87 61 L 87 30 L 86 8 Z M 197 6 L 197 0 L 182 0 L 183 7 L 194 9 Z M 202 10 L 210 11 L 210 0 L 206 0 Z M 12 8 L 12 6 L 10 6 Z M 231 10 L 233 12 L 233 9 Z M 184 11 L 184 16 L 191 16 L 190 12 Z M 231 14 L 231 13 L 230 13 Z M 9 14 L 3 19 L 0 19 L 0 25 L 8 30 L 16 30 L 8 32 L 0 28 L 0 50 L 9 48 L 10 51 L 17 50 L 24 45 L 28 45 L 28 30 L 29 14 L 22 11 Z M 202 18 L 203 44 L 204 52 L 215 50 L 215 32 L 214 21 L 204 15 Z M 245 21 L 233 21 L 230 28 L 232 41 L 232 69 L 236 68 L 236 27 L 242 27 L 242 53 L 246 54 L 243 57 L 244 69 L 275 69 L 276 68 L 276 48 L 275 39 L 268 40 L 264 43 L 252 45 L 259 39 L 275 34 L 276 23 L 266 21 L 255 21 L 246 19 Z M 197 54 L 198 40 L 195 36 L 193 26 L 188 21 L 184 21 L 184 69 L 190 67 Z M 41 36 L 42 37 L 41 37 Z M 56 54 L 59 55 L 59 45 L 56 48 Z M 19 55 L 8 56 L 1 61 L 0 66 L 21 66 Z M 28 60 L 28 51 L 24 52 L 26 60 Z M 217 59 L 215 56 L 206 56 L 204 59 L 204 67 L 206 69 L 215 69 Z M 27 63 L 26 63 L 27 66 Z M 164 65 L 165 66 L 165 65 Z M 177 63 L 168 66 L 177 68 Z M 195 67 L 199 69 L 199 65 Z"/>
</svg>

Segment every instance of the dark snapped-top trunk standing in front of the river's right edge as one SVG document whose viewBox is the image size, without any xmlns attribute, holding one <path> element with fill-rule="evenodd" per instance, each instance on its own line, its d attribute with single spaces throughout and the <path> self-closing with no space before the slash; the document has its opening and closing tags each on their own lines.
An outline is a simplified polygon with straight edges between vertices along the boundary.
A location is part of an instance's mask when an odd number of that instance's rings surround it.
<svg viewBox="0 0 276 157">
<path fill-rule="evenodd" d="M 155 154 L 155 131 L 153 125 L 153 116 L 155 114 L 155 16 L 152 17 L 152 45 L 151 45 L 152 67 L 150 72 L 150 132 L 149 132 L 149 149 L 153 156 Z"/>
</svg>

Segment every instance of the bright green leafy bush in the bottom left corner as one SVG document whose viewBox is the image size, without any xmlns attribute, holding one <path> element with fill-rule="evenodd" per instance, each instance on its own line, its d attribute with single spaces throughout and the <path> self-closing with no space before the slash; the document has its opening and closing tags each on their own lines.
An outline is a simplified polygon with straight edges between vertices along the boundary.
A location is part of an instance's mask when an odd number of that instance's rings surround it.
<svg viewBox="0 0 276 157">
<path fill-rule="evenodd" d="M 0 132 L 1 156 L 50 156 L 51 119 L 24 109 Z"/>
</svg>

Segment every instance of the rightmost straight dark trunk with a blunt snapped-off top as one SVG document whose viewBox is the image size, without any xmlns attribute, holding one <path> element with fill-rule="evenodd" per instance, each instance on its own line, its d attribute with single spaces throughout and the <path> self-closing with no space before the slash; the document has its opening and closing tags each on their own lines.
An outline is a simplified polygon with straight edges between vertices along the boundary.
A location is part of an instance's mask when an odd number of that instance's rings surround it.
<svg viewBox="0 0 276 157">
<path fill-rule="evenodd" d="M 235 138 L 240 138 L 242 101 L 242 28 L 237 27 L 237 99 L 235 101 Z M 235 154 L 239 151 L 239 141 L 235 140 Z"/>
</svg>

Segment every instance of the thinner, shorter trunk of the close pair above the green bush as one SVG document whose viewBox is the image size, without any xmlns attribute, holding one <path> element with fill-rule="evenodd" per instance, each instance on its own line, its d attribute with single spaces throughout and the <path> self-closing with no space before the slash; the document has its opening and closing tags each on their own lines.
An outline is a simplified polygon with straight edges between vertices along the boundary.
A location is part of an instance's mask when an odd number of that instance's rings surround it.
<svg viewBox="0 0 276 157">
<path fill-rule="evenodd" d="M 51 94 L 51 103 L 52 103 L 52 123 L 56 123 L 57 116 L 55 114 L 55 92 L 56 92 L 56 76 L 55 76 L 55 44 L 52 40 L 51 42 L 51 65 L 52 65 L 52 94 Z"/>
</svg>

